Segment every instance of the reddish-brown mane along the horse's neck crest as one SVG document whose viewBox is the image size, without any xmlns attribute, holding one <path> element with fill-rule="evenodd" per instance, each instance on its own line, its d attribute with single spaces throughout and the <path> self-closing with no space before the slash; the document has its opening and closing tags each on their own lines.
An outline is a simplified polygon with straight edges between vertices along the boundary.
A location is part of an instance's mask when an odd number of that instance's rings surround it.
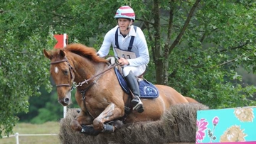
<svg viewBox="0 0 256 144">
<path fill-rule="evenodd" d="M 69 44 L 63 50 L 73 52 L 77 55 L 81 55 L 82 57 L 87 57 L 95 62 L 107 62 L 105 58 L 99 57 L 96 54 L 95 48 L 90 48 L 80 43 Z"/>
</svg>

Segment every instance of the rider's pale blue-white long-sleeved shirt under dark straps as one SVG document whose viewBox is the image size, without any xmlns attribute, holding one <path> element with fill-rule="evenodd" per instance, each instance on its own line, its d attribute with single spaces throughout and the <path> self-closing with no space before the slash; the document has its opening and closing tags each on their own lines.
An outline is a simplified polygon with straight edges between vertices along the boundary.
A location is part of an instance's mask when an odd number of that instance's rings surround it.
<svg viewBox="0 0 256 144">
<path fill-rule="evenodd" d="M 117 48 L 115 45 L 115 33 L 118 26 L 115 26 L 110 31 L 107 32 L 103 40 L 100 50 L 97 52 L 100 57 L 105 57 L 110 52 L 110 47 Z M 147 65 L 149 63 L 149 50 L 146 44 L 146 39 L 142 29 L 137 27 L 135 32 L 134 26 L 131 26 L 128 35 L 124 38 L 118 29 L 118 44 L 120 50 L 128 50 L 130 40 L 134 36 L 134 43 L 132 45 L 131 52 L 135 52 L 137 58 L 127 59 L 129 66 L 140 66 Z M 114 50 L 114 55 L 117 56 L 117 53 Z"/>
</svg>

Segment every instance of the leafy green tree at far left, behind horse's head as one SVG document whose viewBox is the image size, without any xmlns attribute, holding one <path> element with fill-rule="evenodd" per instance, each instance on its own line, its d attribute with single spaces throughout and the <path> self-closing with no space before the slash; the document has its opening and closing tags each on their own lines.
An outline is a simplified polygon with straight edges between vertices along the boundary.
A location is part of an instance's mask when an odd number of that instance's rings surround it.
<svg viewBox="0 0 256 144">
<path fill-rule="evenodd" d="M 0 7 L 0 133 L 6 135 L 18 121 L 16 113 L 28 112 L 29 96 L 39 96 L 41 85 L 50 90 L 41 48 L 52 48 L 53 38 L 34 23 L 31 3 L 25 4 L 4 1 Z"/>
</svg>

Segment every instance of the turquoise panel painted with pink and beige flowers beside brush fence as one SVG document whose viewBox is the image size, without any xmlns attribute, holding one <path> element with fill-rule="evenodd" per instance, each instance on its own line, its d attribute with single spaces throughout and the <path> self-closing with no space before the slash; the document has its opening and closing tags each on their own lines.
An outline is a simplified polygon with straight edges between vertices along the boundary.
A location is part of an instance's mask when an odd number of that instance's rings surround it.
<svg viewBox="0 0 256 144">
<path fill-rule="evenodd" d="M 196 143 L 256 144 L 256 106 L 200 110 Z"/>
</svg>

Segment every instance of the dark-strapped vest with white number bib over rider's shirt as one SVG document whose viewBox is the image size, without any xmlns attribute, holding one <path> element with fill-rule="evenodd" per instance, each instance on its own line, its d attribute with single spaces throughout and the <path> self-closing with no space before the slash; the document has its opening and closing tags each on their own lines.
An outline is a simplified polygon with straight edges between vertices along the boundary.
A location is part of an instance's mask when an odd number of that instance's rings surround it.
<svg viewBox="0 0 256 144">
<path fill-rule="evenodd" d="M 132 45 L 134 43 L 134 36 L 132 36 L 132 38 L 130 40 L 128 50 L 121 50 L 119 48 L 119 45 L 118 45 L 118 29 L 119 28 L 117 28 L 117 31 L 115 33 L 115 45 L 116 45 L 116 48 L 114 48 L 114 51 L 117 53 L 117 56 L 118 57 L 124 57 L 125 59 L 137 58 L 135 52 L 131 52 Z M 137 29 L 137 26 L 134 26 L 135 32 L 136 32 L 136 29 Z"/>
</svg>

